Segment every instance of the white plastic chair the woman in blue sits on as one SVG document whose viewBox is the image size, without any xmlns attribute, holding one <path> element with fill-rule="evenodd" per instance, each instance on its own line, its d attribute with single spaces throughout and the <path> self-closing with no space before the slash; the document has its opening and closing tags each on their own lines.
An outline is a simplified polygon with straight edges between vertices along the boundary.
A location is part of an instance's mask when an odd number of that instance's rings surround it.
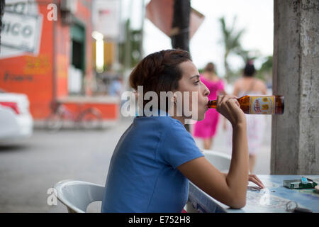
<svg viewBox="0 0 319 227">
<path fill-rule="evenodd" d="M 94 201 L 102 201 L 104 187 L 99 184 L 73 179 L 62 180 L 55 184 L 57 199 L 67 206 L 69 213 L 85 213 Z"/>
</svg>

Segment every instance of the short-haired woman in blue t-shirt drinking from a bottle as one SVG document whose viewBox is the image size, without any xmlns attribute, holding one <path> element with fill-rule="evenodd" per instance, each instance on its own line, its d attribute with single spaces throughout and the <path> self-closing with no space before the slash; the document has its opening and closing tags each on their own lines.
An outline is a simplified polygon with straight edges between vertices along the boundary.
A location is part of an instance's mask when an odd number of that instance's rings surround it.
<svg viewBox="0 0 319 227">
<path fill-rule="evenodd" d="M 142 86 L 144 94 L 174 92 L 174 96 L 168 99 L 168 109 L 153 109 L 152 116 L 135 117 L 118 141 L 108 170 L 102 212 L 181 212 L 188 199 L 189 180 L 233 208 L 245 206 L 248 179 L 263 187 L 256 176 L 248 175 L 246 120 L 235 96 L 218 96 L 217 107 L 234 129 L 228 174 L 206 160 L 186 131 L 185 121 L 194 116 L 184 112 L 175 115 L 177 92 L 197 94 L 195 103 L 185 99 L 196 109 L 196 120 L 202 120 L 208 109 L 209 91 L 200 81 L 189 52 L 162 50 L 148 55 L 130 74 L 130 85 L 135 90 Z M 143 101 L 142 107 L 146 104 Z"/>
</svg>

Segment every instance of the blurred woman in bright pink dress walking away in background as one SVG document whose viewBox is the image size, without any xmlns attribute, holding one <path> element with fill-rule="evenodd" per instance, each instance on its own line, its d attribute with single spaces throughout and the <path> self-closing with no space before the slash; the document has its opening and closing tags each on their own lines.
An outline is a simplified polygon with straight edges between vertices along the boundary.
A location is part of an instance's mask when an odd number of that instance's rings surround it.
<svg viewBox="0 0 319 227">
<path fill-rule="evenodd" d="M 226 94 L 224 90 L 223 80 L 220 79 L 216 72 L 215 66 L 209 62 L 203 74 L 201 74 L 201 82 L 209 89 L 209 100 L 217 99 L 217 95 Z M 216 109 L 208 109 L 205 119 L 197 121 L 194 126 L 194 137 L 203 139 L 203 148 L 209 150 L 213 144 L 213 136 L 216 134 L 216 128 L 219 121 L 219 114 Z"/>
</svg>

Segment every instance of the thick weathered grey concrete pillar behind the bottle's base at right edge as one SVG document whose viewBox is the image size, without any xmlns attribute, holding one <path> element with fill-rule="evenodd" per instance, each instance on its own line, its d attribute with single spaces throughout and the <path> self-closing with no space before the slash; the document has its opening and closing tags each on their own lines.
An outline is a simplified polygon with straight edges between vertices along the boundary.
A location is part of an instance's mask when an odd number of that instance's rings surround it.
<svg viewBox="0 0 319 227">
<path fill-rule="evenodd" d="M 319 174 L 319 1 L 274 0 L 272 175 Z"/>
</svg>

